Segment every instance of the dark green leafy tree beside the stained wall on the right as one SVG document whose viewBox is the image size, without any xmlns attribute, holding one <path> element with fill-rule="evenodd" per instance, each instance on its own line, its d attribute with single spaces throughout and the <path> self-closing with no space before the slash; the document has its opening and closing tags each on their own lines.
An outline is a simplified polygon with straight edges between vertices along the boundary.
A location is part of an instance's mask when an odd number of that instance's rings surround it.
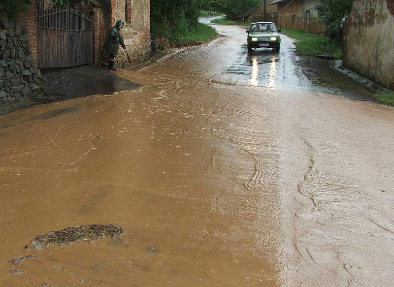
<svg viewBox="0 0 394 287">
<path fill-rule="evenodd" d="M 338 34 L 339 25 L 344 17 L 352 12 L 353 0 L 320 0 L 316 6 L 319 20 L 326 24 L 326 32 L 331 37 Z"/>
</svg>

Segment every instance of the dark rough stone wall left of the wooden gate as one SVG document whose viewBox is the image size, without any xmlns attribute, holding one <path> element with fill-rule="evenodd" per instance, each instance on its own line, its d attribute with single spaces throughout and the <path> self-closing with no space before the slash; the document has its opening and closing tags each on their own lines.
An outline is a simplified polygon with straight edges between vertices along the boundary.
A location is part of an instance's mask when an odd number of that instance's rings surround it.
<svg viewBox="0 0 394 287">
<path fill-rule="evenodd" d="M 25 21 L 0 22 L 0 103 L 27 97 L 38 89 Z"/>
</svg>

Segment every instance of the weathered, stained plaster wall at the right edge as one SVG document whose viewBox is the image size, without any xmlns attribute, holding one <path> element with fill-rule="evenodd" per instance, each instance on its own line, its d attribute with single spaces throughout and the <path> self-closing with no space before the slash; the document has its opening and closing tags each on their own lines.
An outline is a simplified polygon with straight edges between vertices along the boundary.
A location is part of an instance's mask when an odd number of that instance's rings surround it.
<svg viewBox="0 0 394 287">
<path fill-rule="evenodd" d="M 343 65 L 394 89 L 394 0 L 355 0 L 345 24 Z"/>
</svg>

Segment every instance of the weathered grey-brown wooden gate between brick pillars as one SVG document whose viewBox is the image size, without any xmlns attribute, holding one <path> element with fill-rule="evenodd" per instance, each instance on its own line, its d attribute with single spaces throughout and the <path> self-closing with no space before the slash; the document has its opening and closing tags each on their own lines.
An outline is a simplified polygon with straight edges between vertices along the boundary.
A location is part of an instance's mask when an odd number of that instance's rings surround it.
<svg viewBox="0 0 394 287">
<path fill-rule="evenodd" d="M 38 67 L 75 67 L 94 63 L 92 19 L 66 6 L 38 14 Z"/>
</svg>

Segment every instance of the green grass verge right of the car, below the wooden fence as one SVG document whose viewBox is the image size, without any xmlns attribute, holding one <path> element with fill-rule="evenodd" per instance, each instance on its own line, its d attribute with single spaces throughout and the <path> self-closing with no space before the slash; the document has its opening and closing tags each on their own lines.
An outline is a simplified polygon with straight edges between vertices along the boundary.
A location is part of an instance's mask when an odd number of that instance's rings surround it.
<svg viewBox="0 0 394 287">
<path fill-rule="evenodd" d="M 335 59 L 342 59 L 342 48 L 326 37 L 289 29 L 282 29 L 281 33 L 297 39 L 295 44 L 300 55 L 317 56 L 326 54 L 333 56 Z"/>
</svg>

